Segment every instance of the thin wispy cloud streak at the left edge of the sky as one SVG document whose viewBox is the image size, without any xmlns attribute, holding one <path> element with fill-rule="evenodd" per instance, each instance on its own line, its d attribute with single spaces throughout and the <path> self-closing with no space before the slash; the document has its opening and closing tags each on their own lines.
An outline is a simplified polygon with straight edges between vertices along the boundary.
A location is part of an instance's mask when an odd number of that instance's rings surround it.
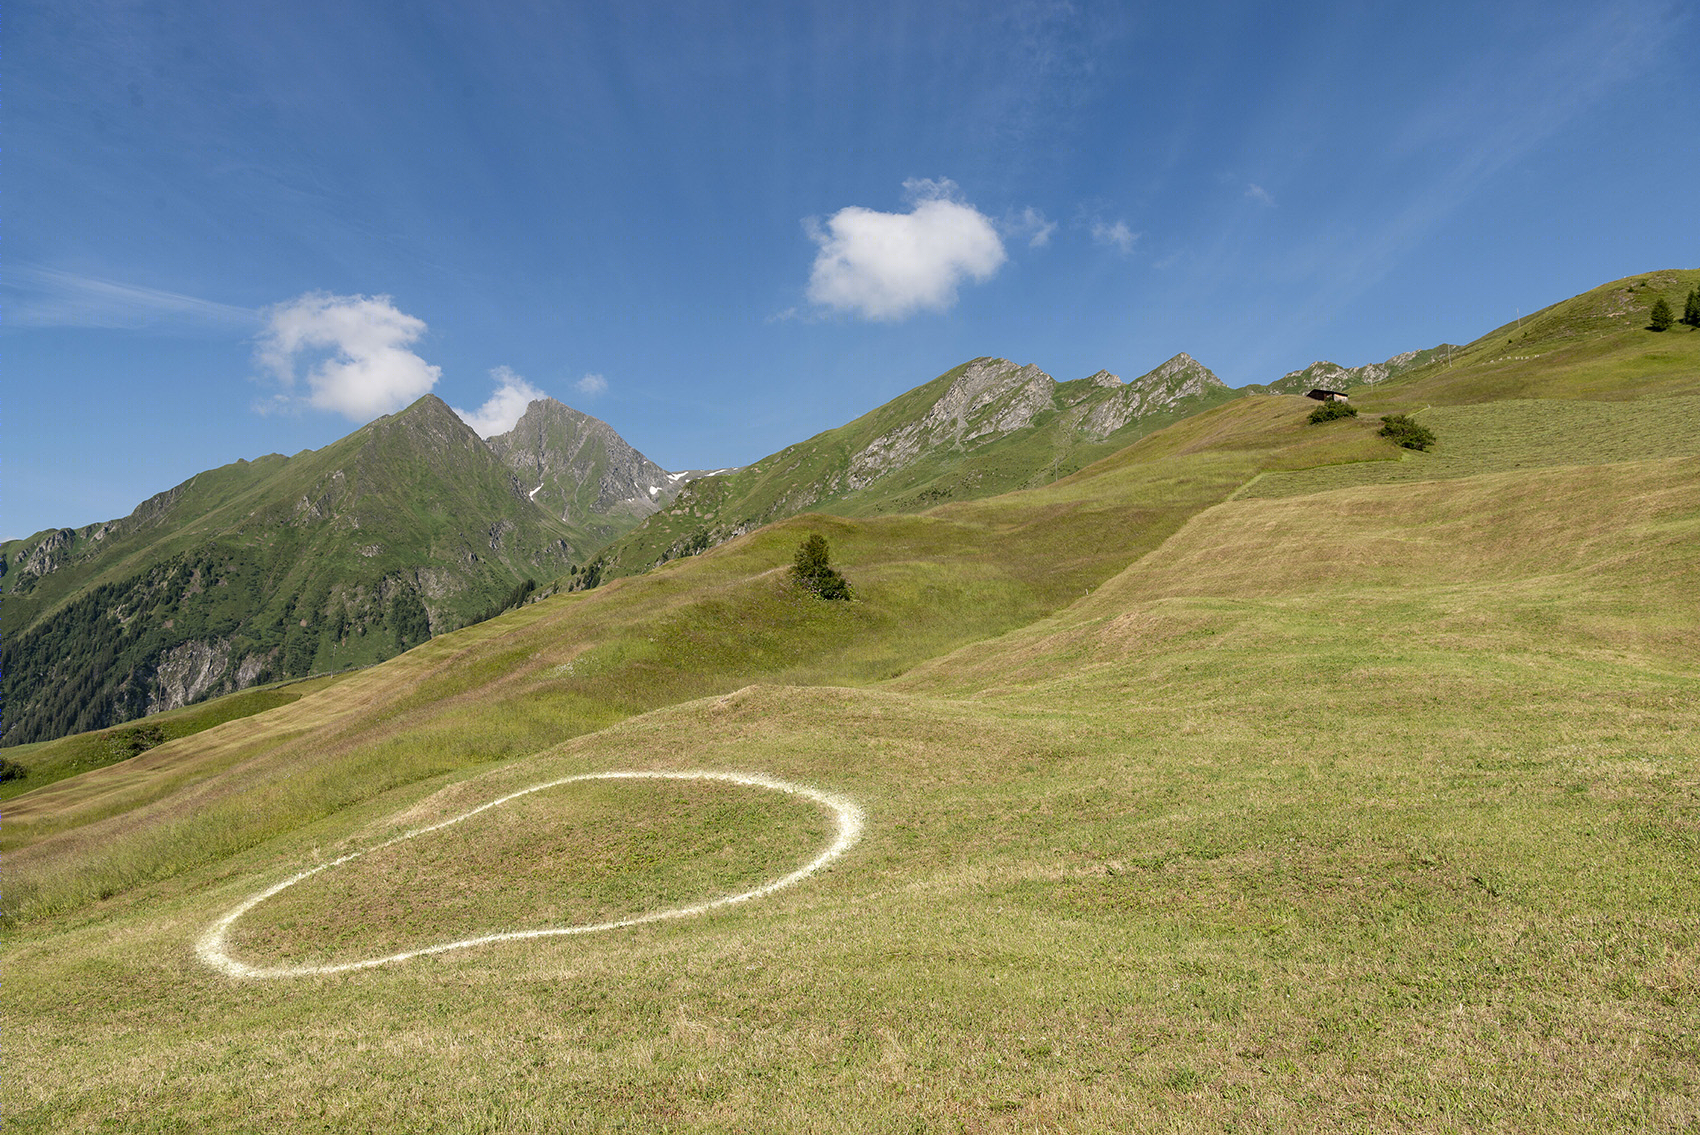
<svg viewBox="0 0 1700 1135">
<path fill-rule="evenodd" d="M 36 265 L 12 267 L 5 291 L 5 323 L 12 328 L 246 333 L 262 318 L 253 308 Z"/>
</svg>

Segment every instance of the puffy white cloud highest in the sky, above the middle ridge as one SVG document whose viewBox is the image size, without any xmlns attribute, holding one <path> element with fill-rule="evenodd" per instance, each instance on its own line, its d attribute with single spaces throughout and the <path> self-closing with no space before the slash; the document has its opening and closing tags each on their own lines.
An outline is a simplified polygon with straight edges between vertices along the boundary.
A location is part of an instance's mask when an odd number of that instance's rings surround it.
<svg viewBox="0 0 1700 1135">
<path fill-rule="evenodd" d="M 821 246 L 809 274 L 809 299 L 865 319 L 904 319 L 945 311 L 964 280 L 984 282 L 1003 267 L 1003 241 L 991 219 L 957 199 L 954 182 L 903 184 L 913 209 L 840 209 L 821 226 L 804 221 Z"/>
</svg>

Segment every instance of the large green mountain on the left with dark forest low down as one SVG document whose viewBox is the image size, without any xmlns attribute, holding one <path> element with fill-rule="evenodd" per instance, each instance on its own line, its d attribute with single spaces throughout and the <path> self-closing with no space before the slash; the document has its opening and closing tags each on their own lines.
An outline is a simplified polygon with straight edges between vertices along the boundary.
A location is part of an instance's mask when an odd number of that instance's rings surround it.
<svg viewBox="0 0 1700 1135">
<path fill-rule="evenodd" d="M 437 398 L 3 549 L 5 743 L 367 664 L 559 574 L 568 532 Z"/>
</svg>

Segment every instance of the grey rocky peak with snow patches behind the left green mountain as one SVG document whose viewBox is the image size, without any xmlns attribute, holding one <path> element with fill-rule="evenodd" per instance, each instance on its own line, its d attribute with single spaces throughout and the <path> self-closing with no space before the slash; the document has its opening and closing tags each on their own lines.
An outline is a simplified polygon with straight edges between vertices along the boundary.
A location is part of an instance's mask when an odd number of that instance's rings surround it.
<svg viewBox="0 0 1700 1135">
<path fill-rule="evenodd" d="M 513 471 L 524 493 L 566 523 L 648 517 L 673 500 L 670 477 L 626 443 L 609 423 L 542 398 L 490 449 Z"/>
</svg>

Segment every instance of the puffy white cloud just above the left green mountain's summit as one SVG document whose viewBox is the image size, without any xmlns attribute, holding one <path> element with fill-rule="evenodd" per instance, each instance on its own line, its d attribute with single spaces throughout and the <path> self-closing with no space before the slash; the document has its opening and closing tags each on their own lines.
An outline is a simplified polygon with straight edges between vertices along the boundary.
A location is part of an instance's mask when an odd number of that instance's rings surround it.
<svg viewBox="0 0 1700 1135">
<path fill-rule="evenodd" d="M 354 421 L 401 409 L 437 386 L 434 367 L 408 345 L 425 335 L 425 321 L 398 311 L 389 296 L 308 292 L 265 309 L 255 362 L 296 401 L 298 362 L 306 372 L 304 401 Z"/>
</svg>

